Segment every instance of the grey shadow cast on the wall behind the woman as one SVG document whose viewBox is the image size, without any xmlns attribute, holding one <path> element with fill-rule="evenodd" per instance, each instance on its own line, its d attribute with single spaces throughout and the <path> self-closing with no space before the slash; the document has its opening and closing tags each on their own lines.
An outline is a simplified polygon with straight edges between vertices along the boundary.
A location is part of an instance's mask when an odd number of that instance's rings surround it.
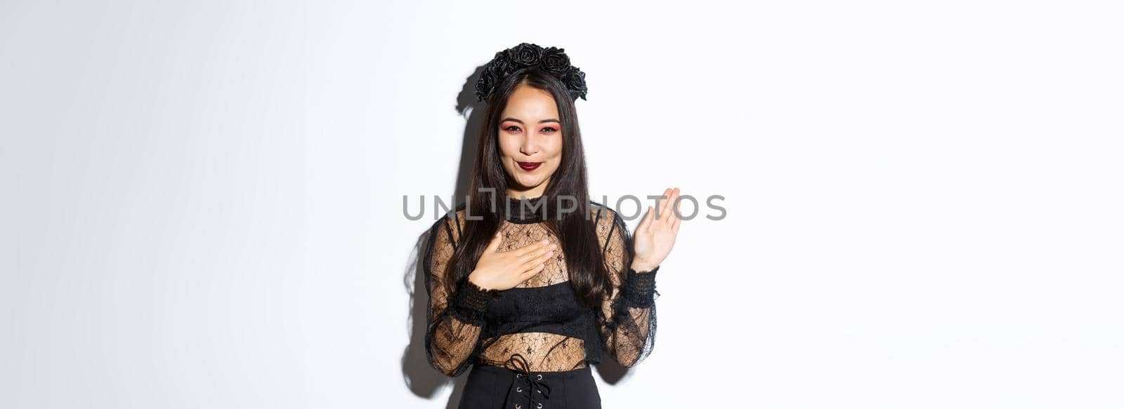
<svg viewBox="0 0 1124 409">
<path fill-rule="evenodd" d="M 457 166 L 456 188 L 454 190 L 453 203 L 451 204 L 453 209 L 465 201 L 464 197 L 469 192 L 472 166 L 474 165 L 477 146 L 480 139 L 480 127 L 484 120 L 483 102 L 477 101 L 475 94 L 477 79 L 480 78 L 480 71 L 482 70 L 483 65 L 478 66 L 456 96 L 455 109 L 461 115 L 468 115 L 468 121 L 464 126 L 464 137 L 461 140 L 461 164 Z M 428 313 L 429 293 L 425 288 L 425 270 L 422 266 L 422 260 L 426 253 L 425 246 L 429 243 L 429 227 L 436 220 L 425 218 L 423 220 L 429 222 L 425 225 L 425 230 L 415 242 L 414 251 L 409 255 L 409 262 L 402 276 L 402 285 L 410 296 L 410 343 L 406 346 L 406 351 L 402 354 L 402 380 L 415 396 L 426 399 L 432 399 L 437 391 L 444 388 L 446 382 L 452 382 L 453 393 L 450 396 L 448 402 L 445 403 L 445 408 L 456 409 L 461 401 L 461 394 L 464 391 L 464 383 L 472 369 L 470 367 L 468 371 L 464 371 L 460 376 L 450 378 L 435 370 L 429 364 L 426 355 L 425 334 L 428 324 L 426 315 Z M 601 379 L 609 384 L 619 382 L 628 371 L 627 367 L 624 367 L 609 357 L 606 357 L 600 364 L 593 366 Z"/>
</svg>

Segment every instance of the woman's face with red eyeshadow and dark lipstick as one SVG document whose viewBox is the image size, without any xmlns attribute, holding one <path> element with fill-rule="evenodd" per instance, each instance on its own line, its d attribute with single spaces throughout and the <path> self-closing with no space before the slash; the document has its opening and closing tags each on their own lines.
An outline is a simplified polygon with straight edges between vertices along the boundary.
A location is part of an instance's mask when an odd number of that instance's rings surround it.
<svg viewBox="0 0 1124 409">
<path fill-rule="evenodd" d="M 562 162 L 562 122 L 550 92 L 519 84 L 507 100 L 499 122 L 504 170 L 516 185 L 508 194 L 537 198 Z"/>
</svg>

